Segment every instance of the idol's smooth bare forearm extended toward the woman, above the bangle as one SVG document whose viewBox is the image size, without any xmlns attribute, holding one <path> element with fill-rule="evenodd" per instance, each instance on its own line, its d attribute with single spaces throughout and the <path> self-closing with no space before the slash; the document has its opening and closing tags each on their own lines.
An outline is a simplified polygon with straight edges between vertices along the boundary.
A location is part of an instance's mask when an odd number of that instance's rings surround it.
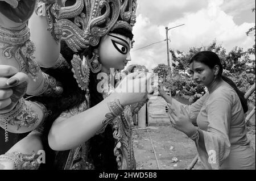
<svg viewBox="0 0 256 181">
<path fill-rule="evenodd" d="M 89 140 L 104 127 L 102 121 L 110 113 L 108 102 L 115 99 L 118 96 L 112 94 L 85 112 L 65 120 L 56 120 L 48 135 L 49 146 L 53 150 L 68 150 Z"/>
</svg>

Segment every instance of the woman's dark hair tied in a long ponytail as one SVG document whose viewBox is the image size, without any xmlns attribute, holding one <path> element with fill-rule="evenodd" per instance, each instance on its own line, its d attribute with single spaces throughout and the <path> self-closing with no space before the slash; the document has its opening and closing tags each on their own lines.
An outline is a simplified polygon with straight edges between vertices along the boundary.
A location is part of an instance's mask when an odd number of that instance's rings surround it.
<svg viewBox="0 0 256 181">
<path fill-rule="evenodd" d="M 210 52 L 210 51 L 202 51 L 202 52 L 196 53 L 195 56 L 193 56 L 189 61 L 189 64 L 191 64 L 193 61 L 205 64 L 209 66 L 210 69 L 213 69 L 215 65 L 218 65 L 220 67 L 220 70 L 218 71 L 217 78 L 222 78 L 225 82 L 227 82 L 230 86 L 233 87 L 233 89 L 237 92 L 237 95 L 240 98 L 240 102 L 243 107 L 243 112 L 248 111 L 247 100 L 245 99 L 243 92 L 237 88 L 235 83 L 230 78 L 222 75 L 223 66 L 221 64 L 220 58 L 216 53 Z"/>
</svg>

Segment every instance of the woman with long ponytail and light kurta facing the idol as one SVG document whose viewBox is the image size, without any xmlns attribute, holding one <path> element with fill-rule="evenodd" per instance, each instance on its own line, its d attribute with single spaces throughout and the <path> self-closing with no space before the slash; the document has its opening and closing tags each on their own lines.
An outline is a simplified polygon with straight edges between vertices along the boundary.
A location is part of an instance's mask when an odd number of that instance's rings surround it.
<svg viewBox="0 0 256 181">
<path fill-rule="evenodd" d="M 255 169 L 255 152 L 246 136 L 248 108 L 242 92 L 222 75 L 216 53 L 199 52 L 191 58 L 189 66 L 193 80 L 206 86 L 208 92 L 185 106 L 160 88 L 160 95 L 170 107 L 172 125 L 196 142 L 206 169 Z"/>
</svg>

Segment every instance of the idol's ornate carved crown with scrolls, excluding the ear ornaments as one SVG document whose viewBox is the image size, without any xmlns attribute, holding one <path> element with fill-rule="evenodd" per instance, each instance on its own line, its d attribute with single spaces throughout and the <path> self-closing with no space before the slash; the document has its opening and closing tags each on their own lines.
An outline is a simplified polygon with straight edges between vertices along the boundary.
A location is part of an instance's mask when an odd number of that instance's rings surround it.
<svg viewBox="0 0 256 181">
<path fill-rule="evenodd" d="M 132 31 L 136 22 L 137 0 L 61 0 L 61 3 L 46 9 L 46 16 L 48 22 L 55 22 L 53 32 L 59 33 L 74 52 L 96 46 L 100 37 L 115 29 Z"/>
</svg>

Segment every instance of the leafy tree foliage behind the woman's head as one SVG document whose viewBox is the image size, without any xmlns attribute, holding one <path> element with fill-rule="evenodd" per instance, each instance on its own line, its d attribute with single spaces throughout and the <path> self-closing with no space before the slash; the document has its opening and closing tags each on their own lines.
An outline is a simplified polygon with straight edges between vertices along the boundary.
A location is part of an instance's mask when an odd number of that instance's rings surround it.
<svg viewBox="0 0 256 181">
<path fill-rule="evenodd" d="M 191 100 L 195 101 L 200 95 L 205 94 L 205 87 L 197 86 L 191 76 L 187 73 L 189 60 L 193 55 L 202 50 L 210 50 L 218 54 L 224 66 L 224 75 L 231 78 L 237 87 L 245 93 L 255 82 L 255 63 L 250 59 L 250 53 L 243 51 L 242 48 L 234 47 L 228 53 L 222 45 L 218 45 L 214 40 L 210 45 L 205 47 L 192 47 L 188 52 L 170 50 L 174 69 L 172 76 L 166 79 L 168 67 L 165 64 L 159 64 L 153 71 L 159 73 L 159 77 L 164 79 L 164 85 L 171 90 L 172 95 L 177 93 L 183 97 L 192 96 Z M 250 100 L 255 102 L 253 96 Z"/>
</svg>

